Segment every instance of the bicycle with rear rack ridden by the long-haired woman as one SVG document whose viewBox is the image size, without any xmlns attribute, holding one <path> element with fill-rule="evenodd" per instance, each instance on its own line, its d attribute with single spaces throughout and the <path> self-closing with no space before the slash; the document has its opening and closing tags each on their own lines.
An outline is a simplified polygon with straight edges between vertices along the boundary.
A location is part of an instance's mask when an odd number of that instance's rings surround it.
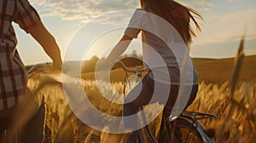
<svg viewBox="0 0 256 143">
<path fill-rule="evenodd" d="M 113 66 L 113 70 L 121 68 L 125 71 L 125 80 L 127 81 L 123 91 L 125 95 L 125 88 L 129 83 L 128 72 L 135 73 L 138 78 L 142 78 L 142 73 L 146 72 L 147 70 L 145 67 L 127 67 L 122 60 L 119 60 L 117 63 L 120 64 Z M 143 106 L 141 106 L 140 110 L 143 111 Z M 157 141 L 154 135 L 148 128 L 148 123 L 144 112 L 142 112 L 142 117 L 146 126 L 139 130 L 139 142 L 146 143 L 148 137 L 148 140 L 151 143 L 156 143 Z M 162 115 L 162 117 L 166 117 L 166 115 Z M 214 130 L 206 129 L 202 123 L 199 122 L 199 120 L 207 118 L 214 118 L 216 120 L 217 116 L 203 112 L 189 111 L 182 112 L 178 117 L 168 115 L 167 118 L 164 119 L 164 122 L 162 122 L 164 123 L 163 126 L 166 129 L 165 142 L 188 142 L 189 140 L 192 140 L 193 142 L 214 143 Z"/>
</svg>

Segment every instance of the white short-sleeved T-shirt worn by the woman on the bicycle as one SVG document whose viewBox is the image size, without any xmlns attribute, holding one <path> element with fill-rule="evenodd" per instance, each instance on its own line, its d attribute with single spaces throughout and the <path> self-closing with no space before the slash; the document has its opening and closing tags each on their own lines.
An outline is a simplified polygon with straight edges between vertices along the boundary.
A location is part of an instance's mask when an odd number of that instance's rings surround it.
<svg viewBox="0 0 256 143">
<path fill-rule="evenodd" d="M 180 72 L 184 65 L 184 55 L 188 57 L 187 71 L 183 72 L 184 84 L 198 84 L 198 74 L 189 57 L 187 44 L 175 28 L 166 20 L 143 9 L 137 9 L 132 15 L 125 35 L 136 38 L 142 31 L 143 61 L 152 71 L 149 76 L 160 83 L 180 84 Z M 168 77 L 170 77 L 168 79 Z"/>
</svg>

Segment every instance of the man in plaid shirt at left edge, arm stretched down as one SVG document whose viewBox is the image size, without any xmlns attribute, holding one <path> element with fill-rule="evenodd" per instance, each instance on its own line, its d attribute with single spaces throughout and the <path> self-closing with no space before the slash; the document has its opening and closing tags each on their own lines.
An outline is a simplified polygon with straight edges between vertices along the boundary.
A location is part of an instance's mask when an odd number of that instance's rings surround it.
<svg viewBox="0 0 256 143">
<path fill-rule="evenodd" d="M 61 51 L 55 38 L 47 31 L 39 15 L 27 0 L 0 0 L 0 121 L 11 120 L 20 97 L 26 100 L 26 70 L 16 50 L 17 40 L 12 22 L 17 23 L 21 29 L 29 33 L 40 43 L 46 54 L 53 60 L 55 69 L 61 69 Z M 36 95 L 34 98 L 38 98 Z M 39 97 L 40 100 L 44 99 Z M 37 99 L 38 100 L 38 99 Z M 39 101 L 35 115 L 44 117 L 44 101 Z M 20 109 L 19 109 L 20 110 Z M 38 113 L 42 112 L 42 113 Z M 38 117 L 34 117 L 38 118 Z M 42 121 L 42 119 L 39 119 Z M 44 121 L 44 119 L 43 119 Z M 38 122 L 38 121 L 34 121 Z M 1 123 L 0 123 L 1 124 Z M 34 126 L 33 124 L 32 126 Z M 38 123 L 43 133 L 35 127 L 27 129 L 29 142 L 42 142 L 44 140 L 44 123 Z M 42 127 L 43 126 L 43 127 Z M 43 128 L 43 129 L 42 129 Z M 40 130 L 40 129 L 39 129 Z M 30 134 L 31 133 L 31 134 Z M 22 138 L 20 138 L 21 140 Z M 24 142 L 27 142 L 24 140 Z"/>
</svg>

